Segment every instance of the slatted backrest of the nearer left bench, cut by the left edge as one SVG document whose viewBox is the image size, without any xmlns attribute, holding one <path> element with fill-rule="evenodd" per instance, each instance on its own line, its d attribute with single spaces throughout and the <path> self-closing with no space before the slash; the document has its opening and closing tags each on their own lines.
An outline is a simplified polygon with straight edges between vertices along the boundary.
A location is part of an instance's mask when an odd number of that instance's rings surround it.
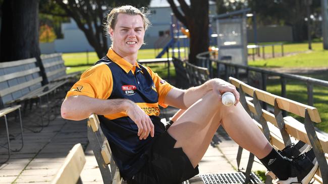
<svg viewBox="0 0 328 184">
<path fill-rule="evenodd" d="M 41 87 L 35 58 L 0 63 L 0 107 Z"/>
</svg>

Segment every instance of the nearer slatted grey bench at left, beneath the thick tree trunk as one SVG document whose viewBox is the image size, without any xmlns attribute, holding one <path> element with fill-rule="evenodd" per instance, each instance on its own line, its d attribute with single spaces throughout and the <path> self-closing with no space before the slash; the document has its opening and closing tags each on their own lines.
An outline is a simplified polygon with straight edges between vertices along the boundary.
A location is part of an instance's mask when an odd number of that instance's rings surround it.
<svg viewBox="0 0 328 184">
<path fill-rule="evenodd" d="M 50 111 L 49 94 L 62 86 L 66 81 L 59 81 L 42 85 L 40 68 L 35 58 L 23 59 L 0 63 L 0 108 L 10 107 L 24 103 L 23 113 L 28 104 L 39 103 L 41 112 L 41 127 L 43 127 L 43 115 Z M 47 101 L 47 111 L 42 108 L 42 98 Z M 48 113 L 49 123 L 49 113 Z M 35 131 L 39 132 L 39 131 Z"/>
</svg>

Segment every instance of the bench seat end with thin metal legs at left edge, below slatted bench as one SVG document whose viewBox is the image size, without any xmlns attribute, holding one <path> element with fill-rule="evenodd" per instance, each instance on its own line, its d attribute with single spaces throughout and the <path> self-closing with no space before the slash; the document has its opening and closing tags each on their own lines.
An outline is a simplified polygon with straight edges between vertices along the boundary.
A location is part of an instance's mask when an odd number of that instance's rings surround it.
<svg viewBox="0 0 328 184">
<path fill-rule="evenodd" d="M 5 119 L 5 125 L 6 125 L 6 132 L 7 132 L 7 145 L 0 145 L 1 147 L 7 148 L 8 149 L 8 157 L 5 161 L 1 160 L 0 163 L 6 163 L 10 159 L 11 151 L 17 152 L 20 151 L 23 146 L 24 146 L 24 137 L 23 137 L 23 125 L 22 125 L 22 118 L 21 118 L 21 105 L 13 106 L 13 107 L 8 107 L 5 109 L 0 110 L 0 117 L 4 117 Z M 7 115 L 9 113 L 18 111 L 19 112 L 19 120 L 20 120 L 20 126 L 21 126 L 21 147 L 19 149 L 12 150 L 10 147 L 10 138 L 9 138 L 9 130 L 8 130 L 8 121 L 7 121 Z"/>
</svg>

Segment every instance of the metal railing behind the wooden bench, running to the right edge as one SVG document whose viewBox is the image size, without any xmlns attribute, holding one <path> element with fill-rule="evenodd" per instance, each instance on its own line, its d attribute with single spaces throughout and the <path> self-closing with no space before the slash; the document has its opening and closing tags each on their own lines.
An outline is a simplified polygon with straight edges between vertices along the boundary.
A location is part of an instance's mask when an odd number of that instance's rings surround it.
<svg viewBox="0 0 328 184">
<path fill-rule="evenodd" d="M 197 58 L 197 65 L 202 67 L 207 67 L 210 73 L 210 77 L 221 77 L 224 75 L 224 79 L 228 81 L 229 76 L 234 76 L 239 78 L 241 74 L 245 74 L 247 76 L 247 83 L 250 81 L 249 72 L 254 71 L 260 73 L 261 77 L 260 84 L 261 89 L 266 90 L 267 78 L 268 76 L 278 76 L 280 77 L 281 83 L 281 96 L 287 98 L 286 93 L 286 83 L 287 79 L 294 79 L 298 81 L 302 81 L 306 83 L 307 86 L 307 105 L 313 106 L 313 85 L 319 85 L 323 87 L 328 87 L 328 81 L 319 80 L 311 77 L 289 74 L 289 73 L 279 73 L 275 71 L 270 71 L 262 68 L 252 67 L 252 66 L 245 66 L 241 64 L 233 64 L 227 61 L 220 61 L 214 58 L 210 58 L 209 56 L 213 52 L 203 52 L 196 56 Z M 214 76 L 213 65 L 216 65 L 216 72 Z M 241 71 L 243 70 L 243 71 Z"/>
</svg>

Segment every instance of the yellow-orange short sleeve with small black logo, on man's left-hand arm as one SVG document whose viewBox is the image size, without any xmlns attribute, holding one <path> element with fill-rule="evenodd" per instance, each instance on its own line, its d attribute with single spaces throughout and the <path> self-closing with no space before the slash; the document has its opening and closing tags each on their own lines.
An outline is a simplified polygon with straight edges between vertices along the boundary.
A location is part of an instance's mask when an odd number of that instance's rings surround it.
<svg viewBox="0 0 328 184">
<path fill-rule="evenodd" d="M 80 80 L 68 91 L 66 98 L 83 95 L 96 99 L 108 99 L 112 90 L 112 71 L 105 63 L 100 63 L 82 73 Z"/>
</svg>

